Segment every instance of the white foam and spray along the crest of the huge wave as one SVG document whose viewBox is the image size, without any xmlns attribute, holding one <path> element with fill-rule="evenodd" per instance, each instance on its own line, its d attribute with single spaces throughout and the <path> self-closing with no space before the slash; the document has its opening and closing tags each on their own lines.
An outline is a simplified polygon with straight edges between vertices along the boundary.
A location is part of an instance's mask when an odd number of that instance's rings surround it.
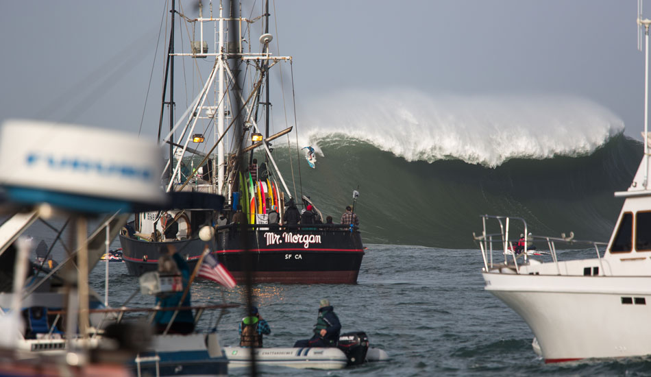
<svg viewBox="0 0 651 377">
<path fill-rule="evenodd" d="M 299 112 L 303 145 L 353 138 L 408 161 L 459 159 L 497 167 L 511 158 L 590 154 L 623 132 L 624 121 L 570 95 L 426 95 L 347 91 Z"/>
</svg>

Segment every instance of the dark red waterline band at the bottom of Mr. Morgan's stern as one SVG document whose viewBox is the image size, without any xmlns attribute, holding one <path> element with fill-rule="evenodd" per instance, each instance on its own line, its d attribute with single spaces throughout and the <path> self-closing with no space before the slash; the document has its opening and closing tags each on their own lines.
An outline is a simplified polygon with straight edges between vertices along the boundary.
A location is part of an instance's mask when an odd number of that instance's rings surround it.
<svg viewBox="0 0 651 377">
<path fill-rule="evenodd" d="M 253 271 L 255 283 L 281 284 L 356 284 L 359 271 Z M 242 284 L 243 272 L 231 271 L 233 278 Z"/>
</svg>

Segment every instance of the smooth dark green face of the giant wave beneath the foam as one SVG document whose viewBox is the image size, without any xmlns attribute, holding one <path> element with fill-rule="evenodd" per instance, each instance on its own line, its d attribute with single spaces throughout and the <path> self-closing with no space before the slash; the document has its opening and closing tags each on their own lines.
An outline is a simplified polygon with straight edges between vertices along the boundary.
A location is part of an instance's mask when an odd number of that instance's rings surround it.
<svg viewBox="0 0 651 377">
<path fill-rule="evenodd" d="M 608 241 L 622 206 L 613 193 L 628 188 L 642 155 L 641 143 L 622 134 L 591 154 L 511 158 L 498 167 L 408 161 L 349 136 L 319 145 L 316 169 L 295 149 L 275 148 L 292 195 L 310 196 L 338 221 L 356 189 L 365 242 L 452 249 L 475 246 L 481 214 L 524 217 L 538 235 Z"/>
</svg>

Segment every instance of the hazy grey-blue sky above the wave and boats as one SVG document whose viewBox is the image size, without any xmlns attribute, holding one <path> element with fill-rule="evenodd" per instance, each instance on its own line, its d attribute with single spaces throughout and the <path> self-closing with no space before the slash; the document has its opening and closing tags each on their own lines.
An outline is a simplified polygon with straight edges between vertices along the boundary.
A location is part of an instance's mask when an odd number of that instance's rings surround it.
<svg viewBox="0 0 651 377">
<path fill-rule="evenodd" d="M 193 1 L 181 3 L 196 15 Z M 255 3 L 254 16 L 260 4 Z M 636 1 L 270 4 L 278 21 L 278 32 L 271 23 L 274 42 L 280 43 L 280 53 L 294 58 L 297 106 L 342 89 L 576 95 L 611 110 L 630 136 L 639 138 L 643 127 L 644 57 L 636 48 Z M 1 5 L 1 119 L 138 131 L 164 1 Z M 152 80 L 145 134 L 155 134 L 158 124 L 160 65 Z M 177 90 L 192 88 L 177 84 Z M 182 112 L 184 104 L 177 110 Z"/>
</svg>

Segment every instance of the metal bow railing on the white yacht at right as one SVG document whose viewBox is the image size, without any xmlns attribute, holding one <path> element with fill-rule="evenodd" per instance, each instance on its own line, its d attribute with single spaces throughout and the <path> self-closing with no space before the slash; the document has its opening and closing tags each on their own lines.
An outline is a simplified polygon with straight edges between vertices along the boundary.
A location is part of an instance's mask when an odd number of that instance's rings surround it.
<svg viewBox="0 0 651 377">
<path fill-rule="evenodd" d="M 484 271 L 488 272 L 491 269 L 495 269 L 496 266 L 509 265 L 509 256 L 513 260 L 513 269 L 516 273 L 520 273 L 520 264 L 528 263 L 528 256 L 534 249 L 531 249 L 532 243 L 534 240 L 545 241 L 548 245 L 548 252 L 541 252 L 536 250 L 537 254 L 549 254 L 552 257 L 553 263 L 556 265 L 556 271 L 558 275 L 561 275 L 561 267 L 558 264 L 558 255 L 556 253 L 556 242 L 563 243 L 582 243 L 589 244 L 595 248 L 597 253 L 597 258 L 600 265 L 600 274 L 604 273 L 604 266 L 602 261 L 602 256 L 600 255 L 600 246 L 605 246 L 607 243 L 598 242 L 598 241 L 582 241 L 574 239 L 574 232 L 569 232 L 569 236 L 566 236 L 565 233 L 562 233 L 560 237 L 553 236 L 535 236 L 528 232 L 528 226 L 525 219 L 521 217 L 512 217 L 512 216 L 495 216 L 495 215 L 481 215 L 482 217 L 482 234 L 479 236 L 473 232 L 475 241 L 479 242 L 479 247 L 482 252 L 482 258 L 484 259 Z M 522 230 L 524 234 L 524 239 L 522 238 L 511 238 L 509 236 L 509 231 L 513 221 L 516 221 L 518 230 Z M 488 229 L 495 229 L 495 223 L 499 228 L 498 232 L 489 232 Z M 519 249 L 519 243 L 524 243 L 521 249 Z M 494 247 L 493 245 L 498 245 Z M 504 256 L 504 262 L 495 263 L 493 261 L 493 252 L 500 250 Z M 518 259 L 523 258 L 523 261 L 519 263 Z"/>
</svg>

